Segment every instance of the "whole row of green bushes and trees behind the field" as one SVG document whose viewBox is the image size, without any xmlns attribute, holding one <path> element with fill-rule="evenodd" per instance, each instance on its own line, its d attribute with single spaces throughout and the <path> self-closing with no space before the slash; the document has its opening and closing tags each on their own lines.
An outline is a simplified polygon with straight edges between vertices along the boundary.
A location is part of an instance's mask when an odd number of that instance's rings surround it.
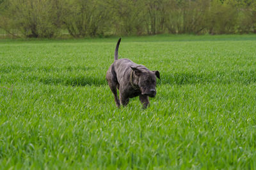
<svg viewBox="0 0 256 170">
<path fill-rule="evenodd" d="M 12 36 L 256 33 L 255 0 L 0 0 Z"/>
</svg>

